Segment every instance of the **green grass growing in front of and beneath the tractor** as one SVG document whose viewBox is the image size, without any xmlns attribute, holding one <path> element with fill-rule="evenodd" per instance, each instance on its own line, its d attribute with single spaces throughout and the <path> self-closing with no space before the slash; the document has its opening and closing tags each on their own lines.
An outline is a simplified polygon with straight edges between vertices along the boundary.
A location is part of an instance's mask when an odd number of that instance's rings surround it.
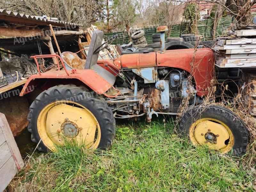
<svg viewBox="0 0 256 192">
<path fill-rule="evenodd" d="M 29 191 L 255 191 L 255 175 L 237 161 L 193 147 L 172 121 L 125 124 L 109 151 L 67 143 L 31 163 L 18 185 Z"/>
</svg>

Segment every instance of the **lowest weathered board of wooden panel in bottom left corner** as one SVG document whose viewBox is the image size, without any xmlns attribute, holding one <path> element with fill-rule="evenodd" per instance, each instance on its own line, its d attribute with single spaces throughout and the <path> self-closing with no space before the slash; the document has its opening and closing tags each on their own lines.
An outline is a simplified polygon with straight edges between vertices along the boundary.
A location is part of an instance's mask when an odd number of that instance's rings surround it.
<svg viewBox="0 0 256 192">
<path fill-rule="evenodd" d="M 12 157 L 0 168 L 0 191 L 3 191 L 16 175 L 18 169 Z"/>
</svg>

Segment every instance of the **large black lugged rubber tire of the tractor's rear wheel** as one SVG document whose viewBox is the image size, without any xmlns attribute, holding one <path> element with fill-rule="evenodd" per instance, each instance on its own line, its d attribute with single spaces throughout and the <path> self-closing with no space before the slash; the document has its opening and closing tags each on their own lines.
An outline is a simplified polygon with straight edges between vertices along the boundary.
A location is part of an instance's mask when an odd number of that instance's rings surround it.
<svg viewBox="0 0 256 192">
<path fill-rule="evenodd" d="M 39 119 L 38 116 L 40 112 L 45 106 L 56 101 L 64 101 L 67 103 L 75 101 L 86 108 L 86 110 L 90 111 L 100 125 L 100 141 L 96 148 L 106 150 L 112 145 L 116 133 L 116 121 L 111 108 L 108 107 L 106 101 L 100 98 L 95 92 L 89 92 L 85 87 L 77 87 L 73 84 L 51 87 L 40 93 L 31 104 L 27 120 L 28 131 L 31 132 L 31 140 L 33 142 L 39 143 L 41 140 L 37 129 L 37 120 Z M 38 144 L 37 149 L 44 152 L 49 151 L 43 139 Z"/>
</svg>

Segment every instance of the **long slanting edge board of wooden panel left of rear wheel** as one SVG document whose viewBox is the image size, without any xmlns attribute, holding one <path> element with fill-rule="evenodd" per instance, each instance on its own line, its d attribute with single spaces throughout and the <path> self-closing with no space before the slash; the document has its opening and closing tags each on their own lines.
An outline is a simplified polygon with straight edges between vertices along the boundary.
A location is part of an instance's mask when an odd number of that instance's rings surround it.
<svg viewBox="0 0 256 192">
<path fill-rule="evenodd" d="M 3 113 L 0 113 L 0 128 L 4 134 L 5 140 L 10 148 L 10 151 L 12 153 L 12 157 L 15 161 L 15 164 L 20 171 L 21 168 L 24 166 L 23 159 L 20 155 L 19 148 L 14 140 L 14 137 L 12 135 L 12 131 L 10 129 L 10 126 L 4 116 Z"/>
</svg>

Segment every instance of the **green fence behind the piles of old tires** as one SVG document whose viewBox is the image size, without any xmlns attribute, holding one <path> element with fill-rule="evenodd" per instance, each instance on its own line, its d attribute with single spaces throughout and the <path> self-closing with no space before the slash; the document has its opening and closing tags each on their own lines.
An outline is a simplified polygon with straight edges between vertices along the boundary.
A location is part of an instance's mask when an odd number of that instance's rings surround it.
<svg viewBox="0 0 256 192">
<path fill-rule="evenodd" d="M 228 27 L 230 27 L 233 22 L 233 17 L 222 17 L 216 26 L 215 36 L 225 35 L 228 31 Z M 201 41 L 212 40 L 212 28 L 213 28 L 213 19 L 206 19 L 203 21 L 199 21 L 197 25 L 198 33 L 201 38 Z M 178 25 L 173 25 L 171 29 L 171 37 L 180 37 L 181 34 L 187 33 L 187 23 L 183 22 Z M 154 28 L 142 28 L 145 31 L 145 38 L 148 44 L 152 43 L 152 34 L 156 33 L 156 27 Z M 133 33 L 134 31 L 131 31 Z M 129 43 L 129 36 L 126 32 L 117 32 L 117 33 L 105 33 L 105 38 L 109 38 L 111 36 L 118 35 L 117 39 L 113 42 L 113 44 L 127 44 Z M 167 37 L 167 34 L 165 35 Z"/>
</svg>

